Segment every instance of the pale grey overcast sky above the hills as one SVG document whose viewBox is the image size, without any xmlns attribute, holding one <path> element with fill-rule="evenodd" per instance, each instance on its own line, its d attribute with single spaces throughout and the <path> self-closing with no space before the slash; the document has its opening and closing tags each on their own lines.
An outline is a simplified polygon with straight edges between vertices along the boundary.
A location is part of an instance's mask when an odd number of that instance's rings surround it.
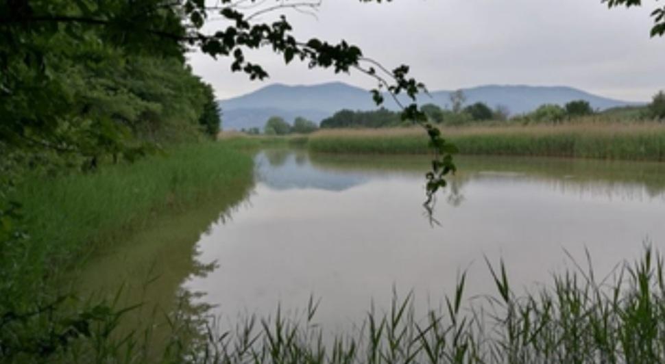
<svg viewBox="0 0 665 364">
<path fill-rule="evenodd" d="M 265 2 L 274 5 L 274 0 Z M 345 39 L 383 64 L 409 64 L 430 90 L 485 84 L 572 86 L 627 101 L 646 101 L 665 88 L 665 38 L 649 38 L 642 8 L 607 10 L 601 0 L 394 0 L 364 4 L 323 0 L 317 18 L 284 12 L 299 39 Z M 263 20 L 270 20 L 263 18 Z M 224 23 L 212 23 L 226 27 Z M 197 75 L 219 99 L 252 92 L 267 83 L 344 81 L 364 88 L 360 74 L 309 70 L 269 51 L 251 53 L 270 74 L 250 81 L 230 72 L 228 60 L 192 53 Z"/>
</svg>

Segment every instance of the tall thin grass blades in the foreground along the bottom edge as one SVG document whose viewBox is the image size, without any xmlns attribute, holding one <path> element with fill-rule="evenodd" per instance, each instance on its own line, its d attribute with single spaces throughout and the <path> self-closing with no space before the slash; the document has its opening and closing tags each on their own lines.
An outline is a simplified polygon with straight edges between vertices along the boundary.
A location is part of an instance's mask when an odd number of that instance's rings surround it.
<svg viewBox="0 0 665 364">
<path fill-rule="evenodd" d="M 507 268 L 487 261 L 496 294 L 465 297 L 465 274 L 444 308 L 425 314 L 411 295 L 394 296 L 387 311 L 370 309 L 350 333 L 330 337 L 316 324 L 318 303 L 300 317 L 254 316 L 219 333 L 197 316 L 169 321 L 178 334 L 199 325 L 198 340 L 171 335 L 165 363 L 664 363 L 665 285 L 663 259 L 646 248 L 636 263 L 618 266 L 596 280 L 589 268 L 556 274 L 550 285 L 517 295 Z M 101 346 L 104 361 L 143 362 L 141 336 Z M 74 362 L 69 352 L 62 359 Z M 114 355 L 115 355 L 114 354 Z M 78 358 L 81 359 L 81 358 Z M 82 360 L 80 362 L 85 362 Z"/>
</svg>

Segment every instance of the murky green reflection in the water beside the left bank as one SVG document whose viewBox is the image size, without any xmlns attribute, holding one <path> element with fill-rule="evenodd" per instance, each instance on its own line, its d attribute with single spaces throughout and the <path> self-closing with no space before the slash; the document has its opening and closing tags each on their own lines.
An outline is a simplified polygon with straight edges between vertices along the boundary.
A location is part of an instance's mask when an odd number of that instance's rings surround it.
<svg viewBox="0 0 665 364">
<path fill-rule="evenodd" d="M 251 187 L 249 181 L 228 185 L 191 209 L 143 226 L 129 240 L 114 246 L 110 254 L 100 255 L 76 272 L 80 277 L 78 294 L 113 297 L 121 291 L 121 304 L 140 304 L 123 315 L 118 331 L 149 330 L 146 339 L 157 351 L 175 334 L 195 339 L 210 307 L 200 303 L 201 293 L 188 291 L 183 283 L 191 276 L 206 276 L 217 267 L 216 262 L 197 259 L 196 243 L 211 224 L 231 218 Z"/>
</svg>

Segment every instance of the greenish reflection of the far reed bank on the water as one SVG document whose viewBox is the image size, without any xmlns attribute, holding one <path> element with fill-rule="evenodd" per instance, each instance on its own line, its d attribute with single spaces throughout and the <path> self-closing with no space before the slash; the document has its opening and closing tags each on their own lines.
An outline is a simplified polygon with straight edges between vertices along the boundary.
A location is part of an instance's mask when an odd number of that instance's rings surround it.
<svg viewBox="0 0 665 364">
<path fill-rule="evenodd" d="M 392 173 L 422 177 L 426 155 L 319 155 L 311 154 L 316 168 L 363 172 L 377 177 Z M 452 206 L 463 203 L 470 181 L 534 181 L 551 185 L 562 194 L 585 194 L 625 199 L 665 198 L 665 164 L 546 157 L 460 156 L 458 173 L 444 192 Z M 423 177 L 424 180 L 424 177 Z"/>
</svg>

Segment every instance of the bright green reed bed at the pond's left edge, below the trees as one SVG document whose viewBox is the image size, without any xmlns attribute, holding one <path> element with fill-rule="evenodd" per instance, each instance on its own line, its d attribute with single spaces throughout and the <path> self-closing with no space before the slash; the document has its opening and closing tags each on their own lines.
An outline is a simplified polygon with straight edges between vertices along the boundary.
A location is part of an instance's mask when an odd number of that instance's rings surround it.
<svg viewBox="0 0 665 364">
<path fill-rule="evenodd" d="M 213 195 L 230 203 L 251 185 L 252 170 L 249 155 L 207 142 L 92 173 L 26 178 L 14 198 L 23 205 L 30 236 L 21 261 L 14 262 L 20 268 L 14 278 L 29 285 L 53 278 L 99 244 L 117 244 L 164 211 Z"/>
</svg>

